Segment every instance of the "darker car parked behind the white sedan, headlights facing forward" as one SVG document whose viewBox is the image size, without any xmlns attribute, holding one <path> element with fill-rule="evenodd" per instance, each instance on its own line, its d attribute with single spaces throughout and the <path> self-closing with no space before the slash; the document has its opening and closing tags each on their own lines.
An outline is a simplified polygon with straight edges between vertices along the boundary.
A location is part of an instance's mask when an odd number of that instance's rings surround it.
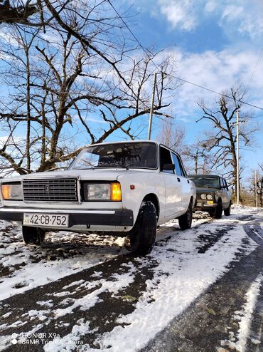
<svg viewBox="0 0 263 352">
<path fill-rule="evenodd" d="M 209 212 L 210 217 L 220 219 L 222 211 L 226 216 L 231 211 L 231 193 L 227 182 L 218 175 L 189 175 L 190 180 L 195 182 L 196 203 L 194 210 Z"/>
</svg>

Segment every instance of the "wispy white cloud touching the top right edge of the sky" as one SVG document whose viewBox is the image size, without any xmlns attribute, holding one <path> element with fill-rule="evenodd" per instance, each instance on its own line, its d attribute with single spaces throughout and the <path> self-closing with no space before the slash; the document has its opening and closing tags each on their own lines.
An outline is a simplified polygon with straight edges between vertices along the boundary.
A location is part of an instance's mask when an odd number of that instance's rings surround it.
<svg viewBox="0 0 263 352">
<path fill-rule="evenodd" d="M 159 0 L 158 5 L 171 26 L 183 31 L 193 31 L 207 16 L 215 16 L 223 31 L 252 38 L 263 33 L 263 4 L 258 0 Z"/>
</svg>

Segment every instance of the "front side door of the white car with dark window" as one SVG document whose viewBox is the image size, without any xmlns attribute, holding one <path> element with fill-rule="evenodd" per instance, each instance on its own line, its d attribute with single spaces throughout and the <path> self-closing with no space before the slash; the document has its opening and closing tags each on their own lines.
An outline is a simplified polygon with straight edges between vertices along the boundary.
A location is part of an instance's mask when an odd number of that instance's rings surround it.
<svg viewBox="0 0 263 352">
<path fill-rule="evenodd" d="M 160 171 L 166 189 L 165 217 L 173 219 L 181 211 L 181 182 L 173 170 L 163 170 L 165 164 L 173 164 L 171 151 L 160 145 Z"/>
</svg>

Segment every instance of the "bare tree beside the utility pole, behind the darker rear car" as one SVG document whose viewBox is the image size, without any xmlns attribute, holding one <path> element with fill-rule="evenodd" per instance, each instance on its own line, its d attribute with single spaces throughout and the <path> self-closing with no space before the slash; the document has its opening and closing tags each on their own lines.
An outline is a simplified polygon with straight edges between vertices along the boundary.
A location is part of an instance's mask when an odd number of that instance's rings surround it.
<svg viewBox="0 0 263 352">
<path fill-rule="evenodd" d="M 208 145 L 208 150 L 213 151 L 213 167 L 222 170 L 223 174 L 231 180 L 231 184 L 237 185 L 237 155 L 236 155 L 236 113 L 242 107 L 241 100 L 245 93 L 242 88 L 231 88 L 230 92 L 222 93 L 216 103 L 215 110 L 208 108 L 205 103 L 198 103 L 203 110 L 200 120 L 209 120 L 212 129 L 206 133 L 204 143 Z M 231 98 L 228 98 L 231 97 Z M 242 114 L 244 117 L 247 115 Z M 240 126 L 240 147 L 251 145 L 252 136 L 257 130 L 247 125 Z"/>
</svg>

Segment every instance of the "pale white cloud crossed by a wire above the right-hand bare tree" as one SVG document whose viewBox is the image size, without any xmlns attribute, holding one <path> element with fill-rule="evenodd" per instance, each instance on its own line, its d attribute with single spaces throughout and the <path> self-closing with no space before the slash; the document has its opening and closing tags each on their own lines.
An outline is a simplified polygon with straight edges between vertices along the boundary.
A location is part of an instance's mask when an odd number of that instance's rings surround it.
<svg viewBox="0 0 263 352">
<path fill-rule="evenodd" d="M 252 74 L 252 63 L 257 62 L 258 53 L 247 51 L 233 51 L 232 48 L 216 51 L 205 51 L 203 53 L 188 53 L 180 49 L 173 51 L 177 58 L 178 71 L 176 76 L 204 86 L 221 93 L 242 83 L 247 91 L 245 101 L 254 105 L 263 106 L 263 63 L 257 68 L 254 78 L 249 81 Z M 254 66 L 253 66 L 254 67 Z M 251 98 L 253 97 L 253 98 Z M 213 108 L 218 95 L 203 90 L 188 83 L 184 83 L 178 91 L 174 110 L 176 117 L 186 120 L 201 113 L 196 104 L 200 99 Z M 244 106 L 244 109 L 245 108 Z"/>
</svg>

